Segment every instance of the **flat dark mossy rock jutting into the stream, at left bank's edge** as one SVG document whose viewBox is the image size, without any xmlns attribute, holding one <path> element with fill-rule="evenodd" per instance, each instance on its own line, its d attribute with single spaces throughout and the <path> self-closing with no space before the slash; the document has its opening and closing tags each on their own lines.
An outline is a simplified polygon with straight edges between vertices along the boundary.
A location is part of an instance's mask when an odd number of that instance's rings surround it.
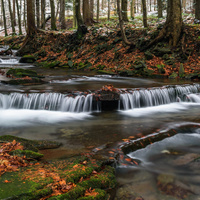
<svg viewBox="0 0 200 200">
<path fill-rule="evenodd" d="M 15 140 L 16 142 L 20 142 L 25 150 L 31 150 L 37 152 L 38 149 L 53 149 L 61 146 L 61 143 L 55 141 L 47 141 L 47 140 L 27 140 L 24 138 L 20 138 L 12 135 L 3 135 L 0 136 L 1 142 L 12 142 Z"/>
</svg>

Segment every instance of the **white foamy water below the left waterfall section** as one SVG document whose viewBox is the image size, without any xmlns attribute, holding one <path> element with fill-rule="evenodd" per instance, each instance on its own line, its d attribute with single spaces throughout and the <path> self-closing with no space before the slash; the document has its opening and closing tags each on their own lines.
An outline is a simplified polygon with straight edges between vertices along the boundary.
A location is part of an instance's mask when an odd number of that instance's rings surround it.
<svg viewBox="0 0 200 200">
<path fill-rule="evenodd" d="M 7 109 L 0 110 L 0 127 L 28 126 L 34 124 L 53 124 L 83 120 L 90 113 L 72 113 L 48 110 Z"/>
</svg>

